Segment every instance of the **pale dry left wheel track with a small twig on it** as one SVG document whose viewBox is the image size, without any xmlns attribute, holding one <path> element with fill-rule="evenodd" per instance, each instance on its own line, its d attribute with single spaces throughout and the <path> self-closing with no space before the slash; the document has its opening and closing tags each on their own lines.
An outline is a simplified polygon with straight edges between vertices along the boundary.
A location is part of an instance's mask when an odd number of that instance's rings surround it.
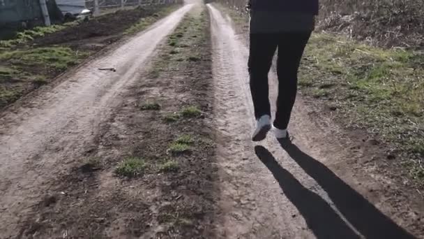
<svg viewBox="0 0 424 239">
<path fill-rule="evenodd" d="M 192 4 L 160 20 L 114 50 L 63 75 L 26 107 L 0 118 L 0 231 L 15 237 L 17 224 L 50 189 L 61 171 L 89 150 L 100 122 L 120 103 L 120 92 L 139 78 L 156 46 Z M 116 68 L 116 73 L 98 68 Z M 42 93 L 42 94 L 41 94 Z"/>
</svg>

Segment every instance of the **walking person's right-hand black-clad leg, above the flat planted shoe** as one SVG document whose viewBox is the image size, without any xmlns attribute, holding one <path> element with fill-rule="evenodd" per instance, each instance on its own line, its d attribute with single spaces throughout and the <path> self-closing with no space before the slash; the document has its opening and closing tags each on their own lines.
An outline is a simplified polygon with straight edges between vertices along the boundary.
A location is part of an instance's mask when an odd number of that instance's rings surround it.
<svg viewBox="0 0 424 239">
<path fill-rule="evenodd" d="M 296 100 L 297 75 L 310 32 L 280 34 L 278 42 L 278 99 L 274 126 L 287 129 Z"/>
</svg>

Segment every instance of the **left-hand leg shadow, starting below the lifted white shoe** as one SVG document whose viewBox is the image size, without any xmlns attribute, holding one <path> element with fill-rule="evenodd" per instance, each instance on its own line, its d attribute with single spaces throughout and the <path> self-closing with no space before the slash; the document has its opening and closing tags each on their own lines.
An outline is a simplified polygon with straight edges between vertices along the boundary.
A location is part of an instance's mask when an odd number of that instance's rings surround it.
<svg viewBox="0 0 424 239">
<path fill-rule="evenodd" d="M 257 157 L 273 173 L 285 196 L 298 208 L 306 224 L 319 239 L 360 238 L 321 196 L 306 189 L 278 164 L 271 152 L 262 146 L 255 147 Z"/>
</svg>

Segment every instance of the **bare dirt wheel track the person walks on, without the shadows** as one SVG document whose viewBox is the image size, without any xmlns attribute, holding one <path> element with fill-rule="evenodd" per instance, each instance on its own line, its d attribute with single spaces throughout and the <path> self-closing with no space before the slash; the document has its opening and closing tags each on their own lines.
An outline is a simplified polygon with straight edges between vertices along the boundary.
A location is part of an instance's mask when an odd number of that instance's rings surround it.
<svg viewBox="0 0 424 239">
<path fill-rule="evenodd" d="M 290 126 L 293 145 L 280 145 L 271 136 L 260 145 L 251 142 L 248 49 L 229 17 L 208 8 L 221 168 L 220 238 L 414 238 L 323 164 L 349 155 L 326 133 L 337 131 L 335 126 L 312 122 L 301 99 Z M 275 78 L 271 73 L 271 99 L 276 99 Z"/>
</svg>

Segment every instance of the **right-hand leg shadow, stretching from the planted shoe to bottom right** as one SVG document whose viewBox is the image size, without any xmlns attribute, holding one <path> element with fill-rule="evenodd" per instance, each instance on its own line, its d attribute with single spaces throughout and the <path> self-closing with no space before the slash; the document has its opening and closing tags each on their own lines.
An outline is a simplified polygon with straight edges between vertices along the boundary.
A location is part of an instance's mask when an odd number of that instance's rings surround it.
<svg viewBox="0 0 424 239">
<path fill-rule="evenodd" d="M 291 142 L 281 141 L 280 145 L 308 175 L 321 185 L 342 215 L 365 238 L 415 238 L 317 159 L 305 154 Z"/>
</svg>

